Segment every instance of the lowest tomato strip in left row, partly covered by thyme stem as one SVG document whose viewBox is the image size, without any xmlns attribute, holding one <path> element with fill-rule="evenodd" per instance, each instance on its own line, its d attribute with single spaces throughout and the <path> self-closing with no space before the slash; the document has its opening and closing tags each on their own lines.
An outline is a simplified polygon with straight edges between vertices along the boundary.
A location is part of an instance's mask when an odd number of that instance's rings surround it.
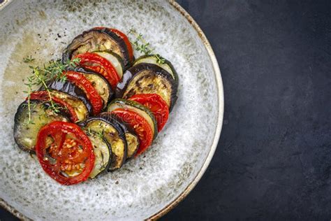
<svg viewBox="0 0 331 221">
<path fill-rule="evenodd" d="M 27 98 L 28 99 L 28 98 Z M 50 101 L 50 94 L 46 91 L 39 91 L 39 92 L 32 92 L 30 94 L 31 100 L 40 100 L 40 101 Z M 58 97 L 52 96 L 52 101 L 59 104 L 60 106 L 66 108 L 69 112 L 70 119 L 72 122 L 78 122 L 78 116 L 75 113 L 75 110 L 73 109 L 73 106 L 68 104 L 66 101 L 59 99 Z"/>
</svg>

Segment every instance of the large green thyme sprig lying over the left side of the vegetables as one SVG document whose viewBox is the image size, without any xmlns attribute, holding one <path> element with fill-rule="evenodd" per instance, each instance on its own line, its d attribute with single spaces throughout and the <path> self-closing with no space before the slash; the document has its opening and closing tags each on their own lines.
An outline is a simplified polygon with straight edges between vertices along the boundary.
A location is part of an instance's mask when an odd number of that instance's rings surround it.
<svg viewBox="0 0 331 221">
<path fill-rule="evenodd" d="M 47 65 L 43 65 L 43 67 L 39 66 L 29 66 L 30 69 L 32 69 L 32 75 L 27 77 L 28 83 L 24 83 L 24 85 L 27 85 L 28 90 L 24 91 L 27 94 L 27 103 L 28 103 L 28 110 L 29 110 L 29 123 L 31 122 L 31 93 L 34 92 L 34 87 L 42 86 L 43 89 L 47 92 L 50 102 L 50 108 L 55 112 L 59 113 L 60 107 L 57 104 L 54 104 L 54 101 L 52 99 L 52 94 L 50 88 L 47 86 L 47 81 L 55 79 L 55 80 L 61 80 L 66 81 L 66 75 L 63 74 L 63 72 L 66 69 L 75 68 L 79 64 L 79 59 L 72 59 L 68 60 L 67 62 L 64 62 L 64 64 L 61 62 L 60 59 L 57 59 L 56 61 L 51 60 Z"/>
</svg>

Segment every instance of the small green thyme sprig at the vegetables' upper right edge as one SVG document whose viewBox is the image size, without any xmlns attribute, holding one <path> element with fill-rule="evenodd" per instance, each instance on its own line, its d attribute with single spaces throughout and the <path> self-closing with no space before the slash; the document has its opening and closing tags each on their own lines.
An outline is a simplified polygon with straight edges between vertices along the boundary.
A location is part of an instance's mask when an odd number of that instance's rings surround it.
<svg viewBox="0 0 331 221">
<path fill-rule="evenodd" d="M 138 34 L 135 29 L 131 28 L 128 31 L 128 34 L 133 34 L 135 36 L 135 41 L 131 41 L 135 46 L 135 50 L 138 50 L 144 55 L 151 55 L 154 52 L 155 48 L 151 48 L 150 44 L 145 40 L 141 33 Z M 155 54 L 156 62 L 159 64 L 164 64 L 165 59 L 159 54 Z"/>
</svg>

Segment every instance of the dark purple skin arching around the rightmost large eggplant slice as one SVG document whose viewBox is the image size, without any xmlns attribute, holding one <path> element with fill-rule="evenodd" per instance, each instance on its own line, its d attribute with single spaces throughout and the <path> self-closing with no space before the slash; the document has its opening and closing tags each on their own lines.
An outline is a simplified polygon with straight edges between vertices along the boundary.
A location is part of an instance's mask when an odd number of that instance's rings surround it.
<svg viewBox="0 0 331 221">
<path fill-rule="evenodd" d="M 156 64 L 147 64 L 147 63 L 140 63 L 135 66 L 132 66 L 130 69 L 126 70 L 123 74 L 123 78 L 117 84 L 115 89 L 115 97 L 122 98 L 124 92 L 126 92 L 126 88 L 128 87 L 129 83 L 135 76 L 138 75 L 141 71 L 144 70 L 151 70 L 154 75 L 161 76 L 168 80 L 171 85 L 171 95 L 170 95 L 170 111 L 175 106 L 177 101 L 177 90 L 178 90 L 178 82 L 172 78 L 171 74 L 165 69 L 162 69 L 160 66 Z M 132 94 L 133 95 L 133 94 Z"/>
</svg>

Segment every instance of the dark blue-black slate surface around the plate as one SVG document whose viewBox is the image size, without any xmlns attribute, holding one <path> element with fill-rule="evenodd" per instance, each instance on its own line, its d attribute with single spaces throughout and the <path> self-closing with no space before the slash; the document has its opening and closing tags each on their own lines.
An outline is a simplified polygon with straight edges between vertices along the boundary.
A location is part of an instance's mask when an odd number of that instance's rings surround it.
<svg viewBox="0 0 331 221">
<path fill-rule="evenodd" d="M 331 1 L 179 3 L 214 48 L 225 113 L 205 176 L 162 220 L 330 220 Z"/>
</svg>

